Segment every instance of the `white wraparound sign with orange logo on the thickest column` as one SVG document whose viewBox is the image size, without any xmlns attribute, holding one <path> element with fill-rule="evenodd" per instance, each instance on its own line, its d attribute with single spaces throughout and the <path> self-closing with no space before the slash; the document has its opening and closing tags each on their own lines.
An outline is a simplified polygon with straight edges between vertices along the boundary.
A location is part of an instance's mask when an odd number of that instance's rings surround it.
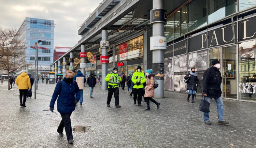
<svg viewBox="0 0 256 148">
<path fill-rule="evenodd" d="M 152 36 L 150 37 L 150 50 L 166 49 L 165 36 Z"/>
</svg>

